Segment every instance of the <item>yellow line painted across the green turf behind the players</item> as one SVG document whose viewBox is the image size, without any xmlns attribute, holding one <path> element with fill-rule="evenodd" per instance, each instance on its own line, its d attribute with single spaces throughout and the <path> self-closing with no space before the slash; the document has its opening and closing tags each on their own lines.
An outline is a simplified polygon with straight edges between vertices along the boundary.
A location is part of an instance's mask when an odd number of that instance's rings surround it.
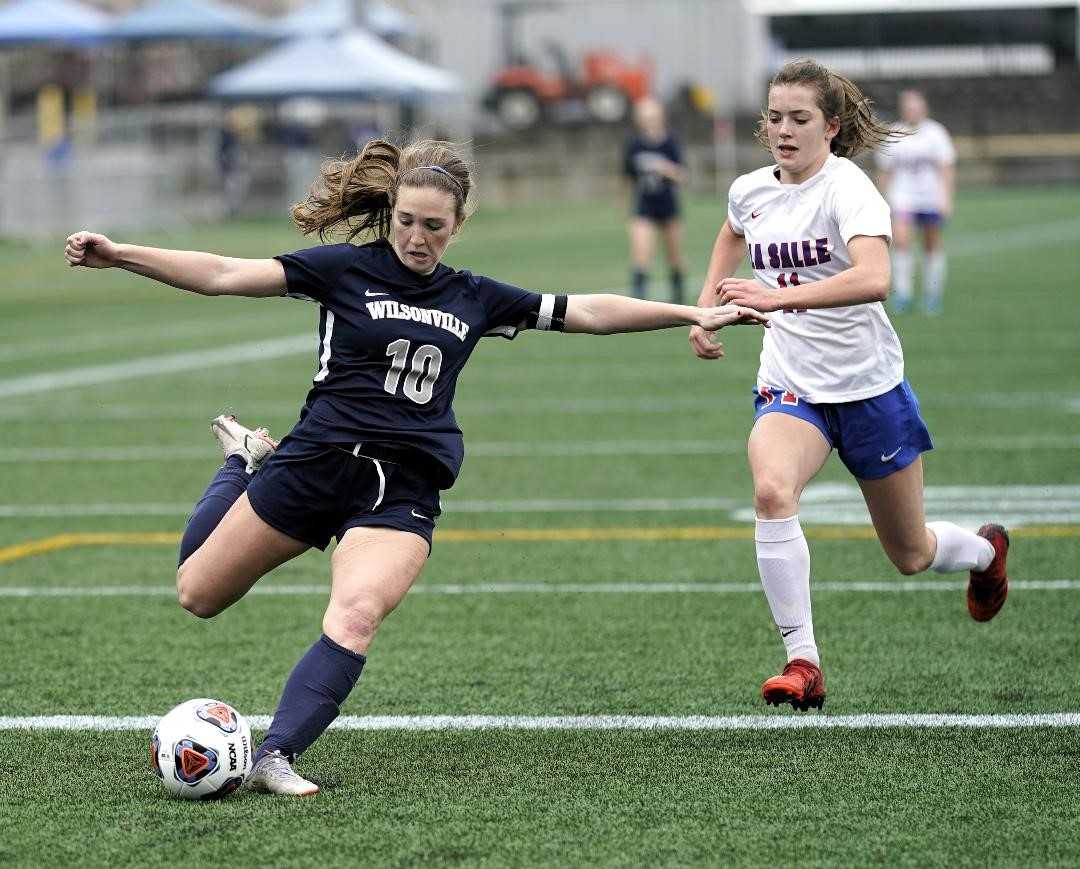
<svg viewBox="0 0 1080 869">
<path fill-rule="evenodd" d="M 1016 528 L 1014 538 L 1080 538 L 1080 525 L 1038 525 Z M 816 526 L 806 529 L 811 540 L 873 540 L 869 526 Z M 436 531 L 440 543 L 499 542 L 603 542 L 603 541 L 677 541 L 677 540 L 753 540 L 750 526 L 691 526 L 688 528 L 490 528 Z M 35 555 L 69 549 L 73 546 L 175 546 L 180 535 L 172 531 L 133 533 L 56 534 L 0 547 L 0 565 Z"/>
</svg>

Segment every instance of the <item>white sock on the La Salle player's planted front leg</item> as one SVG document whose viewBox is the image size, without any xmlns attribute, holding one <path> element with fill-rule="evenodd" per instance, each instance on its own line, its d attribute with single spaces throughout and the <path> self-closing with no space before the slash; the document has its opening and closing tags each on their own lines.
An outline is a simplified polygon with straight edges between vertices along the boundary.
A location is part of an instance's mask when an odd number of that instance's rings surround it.
<svg viewBox="0 0 1080 869">
<path fill-rule="evenodd" d="M 754 531 L 757 569 L 787 660 L 820 664 L 810 615 L 810 549 L 799 517 L 758 519 Z"/>
</svg>

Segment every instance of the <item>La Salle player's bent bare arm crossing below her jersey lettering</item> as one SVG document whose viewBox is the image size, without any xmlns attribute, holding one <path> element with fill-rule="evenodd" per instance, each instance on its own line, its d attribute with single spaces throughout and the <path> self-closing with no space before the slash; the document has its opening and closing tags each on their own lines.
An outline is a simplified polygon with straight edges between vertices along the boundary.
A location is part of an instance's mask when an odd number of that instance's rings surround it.
<svg viewBox="0 0 1080 869">
<path fill-rule="evenodd" d="M 720 282 L 720 301 L 753 305 L 758 311 L 841 308 L 885 301 L 892 280 L 886 240 L 880 235 L 856 235 L 848 242 L 848 253 L 851 255 L 850 269 L 824 281 L 797 284 L 782 290 L 757 281 L 727 277 Z"/>
</svg>

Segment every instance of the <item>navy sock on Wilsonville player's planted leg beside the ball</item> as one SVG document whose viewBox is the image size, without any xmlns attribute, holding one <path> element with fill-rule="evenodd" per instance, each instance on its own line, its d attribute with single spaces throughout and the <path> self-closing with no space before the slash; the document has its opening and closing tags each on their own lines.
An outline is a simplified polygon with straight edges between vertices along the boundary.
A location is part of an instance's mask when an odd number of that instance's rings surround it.
<svg viewBox="0 0 1080 869">
<path fill-rule="evenodd" d="M 366 661 L 323 634 L 293 667 L 255 760 L 271 751 L 295 760 L 338 717 Z"/>
</svg>

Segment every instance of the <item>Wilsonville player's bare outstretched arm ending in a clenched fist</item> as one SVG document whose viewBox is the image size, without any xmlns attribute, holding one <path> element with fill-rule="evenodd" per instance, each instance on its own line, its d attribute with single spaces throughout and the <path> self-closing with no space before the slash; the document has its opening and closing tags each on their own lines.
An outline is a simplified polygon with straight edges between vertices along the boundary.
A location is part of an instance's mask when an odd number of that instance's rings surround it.
<svg viewBox="0 0 1080 869">
<path fill-rule="evenodd" d="M 200 250 L 117 244 L 98 232 L 68 236 L 69 266 L 124 269 L 201 296 L 282 296 L 285 269 L 275 259 L 240 259 Z"/>
</svg>

